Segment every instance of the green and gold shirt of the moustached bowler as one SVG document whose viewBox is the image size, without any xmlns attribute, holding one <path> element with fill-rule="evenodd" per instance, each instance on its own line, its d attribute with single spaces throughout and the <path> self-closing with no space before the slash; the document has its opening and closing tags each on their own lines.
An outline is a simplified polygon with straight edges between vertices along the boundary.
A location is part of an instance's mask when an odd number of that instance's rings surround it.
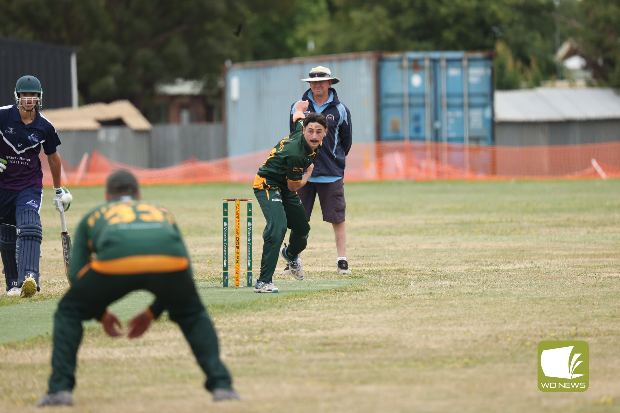
<svg viewBox="0 0 620 413">
<path fill-rule="evenodd" d="M 295 130 L 273 147 L 254 179 L 254 188 L 288 188 L 287 181 L 299 182 L 321 148 L 310 149 L 301 133 L 303 118 L 295 121 Z"/>
</svg>

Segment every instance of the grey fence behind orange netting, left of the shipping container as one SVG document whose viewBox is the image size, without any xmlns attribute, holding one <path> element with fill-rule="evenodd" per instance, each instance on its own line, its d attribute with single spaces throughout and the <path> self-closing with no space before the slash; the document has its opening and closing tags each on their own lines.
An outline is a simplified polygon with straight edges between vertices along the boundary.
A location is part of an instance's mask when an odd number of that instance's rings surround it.
<svg viewBox="0 0 620 413">
<path fill-rule="evenodd" d="M 59 131 L 58 153 L 77 166 L 85 153 L 94 151 L 123 164 L 159 168 L 186 159 L 224 158 L 226 140 L 221 123 L 154 125 L 151 131 L 128 127 L 102 127 L 98 131 Z"/>
</svg>

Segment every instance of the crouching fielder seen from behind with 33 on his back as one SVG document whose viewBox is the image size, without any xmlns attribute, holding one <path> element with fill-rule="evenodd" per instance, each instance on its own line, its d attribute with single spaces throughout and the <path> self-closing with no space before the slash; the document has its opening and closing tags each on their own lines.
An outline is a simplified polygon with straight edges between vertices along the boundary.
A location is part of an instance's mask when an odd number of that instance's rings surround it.
<svg viewBox="0 0 620 413">
<path fill-rule="evenodd" d="M 71 288 L 54 315 L 48 394 L 37 406 L 73 404 L 82 321 L 95 318 L 110 337 L 122 335 L 115 327 L 120 321 L 107 307 L 142 289 L 155 300 L 130 321 L 128 336 L 139 337 L 167 309 L 205 371 L 205 387 L 213 399 L 241 399 L 219 360 L 218 338 L 196 293 L 189 255 L 170 213 L 139 200 L 138 182 L 128 171 L 108 177 L 105 197 L 107 203 L 84 216 L 76 229 Z"/>
</svg>

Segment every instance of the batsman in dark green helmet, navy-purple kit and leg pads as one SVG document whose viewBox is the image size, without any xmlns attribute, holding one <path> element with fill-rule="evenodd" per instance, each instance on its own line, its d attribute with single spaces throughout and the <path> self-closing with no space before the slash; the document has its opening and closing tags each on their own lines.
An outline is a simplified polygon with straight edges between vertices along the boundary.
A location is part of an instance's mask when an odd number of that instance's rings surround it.
<svg viewBox="0 0 620 413">
<path fill-rule="evenodd" d="M 60 180 L 60 145 L 43 107 L 41 82 L 22 76 L 14 89 L 15 104 L 0 107 L 0 255 L 8 296 L 32 296 L 39 285 L 43 233 L 43 171 L 39 154 L 47 155 L 54 183 L 54 207 L 67 210 L 71 194 Z"/>
</svg>

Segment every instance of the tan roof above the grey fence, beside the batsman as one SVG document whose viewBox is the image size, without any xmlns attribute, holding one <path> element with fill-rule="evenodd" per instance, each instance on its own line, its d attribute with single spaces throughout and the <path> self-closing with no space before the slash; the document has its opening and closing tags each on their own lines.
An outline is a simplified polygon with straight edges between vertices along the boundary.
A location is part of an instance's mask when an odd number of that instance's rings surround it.
<svg viewBox="0 0 620 413">
<path fill-rule="evenodd" d="M 153 126 L 129 100 L 117 100 L 110 104 L 97 103 L 77 109 L 42 110 L 56 130 L 99 130 L 105 121 L 121 119 L 125 125 L 136 131 L 151 130 Z"/>
</svg>

